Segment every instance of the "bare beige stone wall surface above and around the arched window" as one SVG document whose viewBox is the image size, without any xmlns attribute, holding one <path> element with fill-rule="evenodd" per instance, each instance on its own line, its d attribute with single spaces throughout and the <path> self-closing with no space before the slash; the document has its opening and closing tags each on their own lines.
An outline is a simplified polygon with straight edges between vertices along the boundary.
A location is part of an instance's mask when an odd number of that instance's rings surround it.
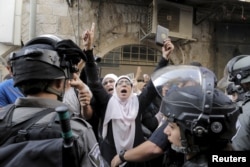
<svg viewBox="0 0 250 167">
<path fill-rule="evenodd" d="M 22 41 L 24 43 L 29 40 L 30 14 L 32 14 L 30 0 L 23 0 Z M 140 27 L 147 26 L 146 6 L 79 0 L 69 8 L 65 0 L 37 0 L 35 17 L 35 36 L 55 34 L 62 38 L 70 38 L 80 46 L 81 34 L 91 27 L 92 22 L 95 22 L 95 54 L 100 57 L 118 46 L 145 44 L 144 41 L 140 41 Z M 223 41 L 218 43 L 215 32 L 215 24 L 209 20 L 193 25 L 193 38 L 197 41 L 174 42 L 175 52 L 172 55 L 172 61 L 175 64 L 201 62 L 221 78 L 224 66 L 232 57 L 236 45 L 235 43 L 225 44 Z M 154 43 L 150 45 L 152 48 L 161 50 Z M 241 50 L 242 45 L 246 46 L 246 41 L 239 42 L 237 47 Z M 248 49 L 244 47 L 244 53 L 247 52 Z"/>
</svg>

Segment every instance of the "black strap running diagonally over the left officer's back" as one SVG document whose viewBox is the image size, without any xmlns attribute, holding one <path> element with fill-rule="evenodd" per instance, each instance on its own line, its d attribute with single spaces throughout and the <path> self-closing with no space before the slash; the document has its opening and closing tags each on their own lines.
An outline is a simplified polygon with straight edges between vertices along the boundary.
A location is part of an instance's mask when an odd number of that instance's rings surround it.
<svg viewBox="0 0 250 167">
<path fill-rule="evenodd" d="M 54 108 L 46 108 L 46 109 L 36 113 L 31 118 L 23 121 L 22 123 L 19 123 L 18 125 L 7 127 L 5 135 L 1 136 L 0 146 L 2 146 L 9 138 L 11 138 L 12 136 L 15 136 L 20 129 L 24 129 L 26 127 L 32 126 L 34 123 L 39 121 L 42 117 L 44 117 L 45 115 L 47 115 L 53 111 L 55 111 Z M 13 111 L 11 111 L 11 112 L 13 113 Z M 10 120 L 12 120 L 12 119 L 10 119 Z M 8 144 L 8 143 L 5 143 L 5 144 Z"/>
</svg>

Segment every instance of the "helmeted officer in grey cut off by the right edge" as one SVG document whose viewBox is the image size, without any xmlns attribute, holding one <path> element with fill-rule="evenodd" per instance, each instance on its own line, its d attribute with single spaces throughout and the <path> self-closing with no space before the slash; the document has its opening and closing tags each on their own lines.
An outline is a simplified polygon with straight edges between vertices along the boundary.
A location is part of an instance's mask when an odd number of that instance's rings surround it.
<svg viewBox="0 0 250 167">
<path fill-rule="evenodd" d="M 237 151 L 250 150 L 250 55 L 239 55 L 232 58 L 226 65 L 228 80 L 240 85 L 245 97 L 242 114 L 237 122 L 237 133 L 232 138 L 233 149 Z"/>
</svg>

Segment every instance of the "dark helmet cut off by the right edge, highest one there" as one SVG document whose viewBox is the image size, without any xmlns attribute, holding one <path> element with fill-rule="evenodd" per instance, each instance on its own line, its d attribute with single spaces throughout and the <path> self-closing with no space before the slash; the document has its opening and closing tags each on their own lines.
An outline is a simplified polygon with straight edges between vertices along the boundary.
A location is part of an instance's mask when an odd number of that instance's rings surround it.
<svg viewBox="0 0 250 167">
<path fill-rule="evenodd" d="M 250 55 L 239 55 L 226 65 L 228 80 L 236 85 L 250 82 Z"/>
</svg>

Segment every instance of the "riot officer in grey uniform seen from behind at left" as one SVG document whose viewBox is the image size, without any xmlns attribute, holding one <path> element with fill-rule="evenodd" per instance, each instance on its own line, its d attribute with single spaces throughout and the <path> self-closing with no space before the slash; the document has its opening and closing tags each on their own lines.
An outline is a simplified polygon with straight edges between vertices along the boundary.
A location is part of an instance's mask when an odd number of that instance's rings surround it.
<svg viewBox="0 0 250 167">
<path fill-rule="evenodd" d="M 33 120 L 36 115 L 41 115 L 40 113 L 51 109 L 39 121 L 32 122 L 32 126 L 25 128 L 32 127 L 32 130 L 39 130 L 39 127 L 48 124 L 52 133 L 58 132 L 58 129 L 52 126 L 57 122 L 55 120 L 57 113 L 54 112 L 54 109 L 66 105 L 62 103 L 65 85 L 69 79 L 76 77 L 75 73 L 78 71 L 77 64 L 81 59 L 86 61 L 86 56 L 73 41 L 62 40 L 54 35 L 36 37 L 28 41 L 20 50 L 13 52 L 10 56 L 10 62 L 14 84 L 22 90 L 26 97 L 16 100 L 11 123 L 18 125 L 25 121 Z M 71 113 L 74 112 L 70 110 L 70 107 L 68 108 Z M 78 164 L 80 166 L 108 166 L 100 155 L 99 146 L 91 126 L 86 121 L 80 120 L 80 118 L 70 120 L 70 124 L 72 128 L 71 135 L 77 141 L 75 147 L 77 157 L 75 158 L 79 158 Z M 46 135 L 44 131 L 38 134 L 37 137 L 48 137 L 46 139 L 49 139 L 49 141 L 53 141 L 50 139 L 55 139 L 53 137 L 49 138 L 50 135 Z M 43 138 L 35 139 L 36 142 L 44 141 Z M 0 141 L 2 142 L 2 140 L 3 138 Z M 32 154 L 25 153 L 23 150 L 20 153 L 16 151 L 15 154 L 10 154 L 10 151 L 4 152 L 8 147 L 2 147 L 0 144 L 0 166 L 3 160 L 10 160 L 11 165 L 9 166 L 67 166 L 64 162 L 68 161 L 68 157 L 63 158 L 64 151 L 61 150 L 59 154 L 55 154 L 57 152 L 52 149 L 57 145 L 52 144 L 51 147 L 44 147 L 43 151 L 39 152 L 38 150 L 41 149 L 38 149 L 38 147 L 42 146 L 42 144 L 36 145 L 36 142 L 32 140 L 27 140 L 23 143 L 26 142 L 34 145 L 26 149 L 36 148 Z M 46 142 L 46 145 L 48 144 L 49 142 Z M 56 148 L 60 151 L 62 146 L 59 145 Z M 17 158 L 13 157 L 14 155 Z M 6 157 L 4 158 L 4 156 Z M 36 156 L 39 158 L 34 160 Z M 68 163 L 71 164 L 70 162 Z M 8 166 L 6 163 L 4 164 L 4 166 Z"/>
</svg>

